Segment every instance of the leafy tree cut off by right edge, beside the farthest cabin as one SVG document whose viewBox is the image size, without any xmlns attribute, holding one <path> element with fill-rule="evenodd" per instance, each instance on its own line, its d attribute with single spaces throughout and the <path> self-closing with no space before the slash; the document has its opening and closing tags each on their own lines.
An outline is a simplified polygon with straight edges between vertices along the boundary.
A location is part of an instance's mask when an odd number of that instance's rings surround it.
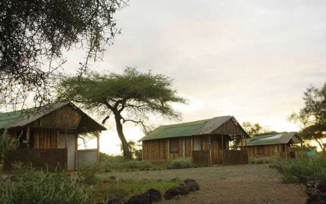
<svg viewBox="0 0 326 204">
<path fill-rule="evenodd" d="M 300 135 L 314 140 L 323 152 L 326 151 L 326 83 L 320 87 L 311 86 L 304 92 L 305 106 L 289 119 L 304 125 Z"/>
</svg>

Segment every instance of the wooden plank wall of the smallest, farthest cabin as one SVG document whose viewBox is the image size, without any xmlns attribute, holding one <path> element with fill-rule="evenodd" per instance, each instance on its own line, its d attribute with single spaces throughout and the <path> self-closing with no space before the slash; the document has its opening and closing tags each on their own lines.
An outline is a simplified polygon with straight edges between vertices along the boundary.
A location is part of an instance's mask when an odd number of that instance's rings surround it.
<svg viewBox="0 0 326 204">
<path fill-rule="evenodd" d="M 248 146 L 248 156 L 249 157 L 285 157 L 284 144 L 278 144 L 278 152 L 274 151 L 274 145 L 261 145 L 264 147 L 264 154 L 258 154 L 258 146 Z M 288 157 L 290 156 L 290 144 L 286 144 L 286 150 Z M 284 153 L 283 153 L 284 152 Z"/>
</svg>

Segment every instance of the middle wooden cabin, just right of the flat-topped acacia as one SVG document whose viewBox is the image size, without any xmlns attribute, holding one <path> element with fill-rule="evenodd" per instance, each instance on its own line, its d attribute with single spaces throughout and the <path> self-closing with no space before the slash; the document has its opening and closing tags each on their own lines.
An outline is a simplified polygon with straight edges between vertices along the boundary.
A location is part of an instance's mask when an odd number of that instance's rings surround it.
<svg viewBox="0 0 326 204">
<path fill-rule="evenodd" d="M 193 158 L 194 151 L 206 150 L 209 151 L 210 163 L 222 164 L 221 151 L 229 149 L 229 141 L 237 137 L 249 136 L 233 116 L 222 116 L 161 125 L 140 141 L 143 144 L 143 160 Z"/>
</svg>

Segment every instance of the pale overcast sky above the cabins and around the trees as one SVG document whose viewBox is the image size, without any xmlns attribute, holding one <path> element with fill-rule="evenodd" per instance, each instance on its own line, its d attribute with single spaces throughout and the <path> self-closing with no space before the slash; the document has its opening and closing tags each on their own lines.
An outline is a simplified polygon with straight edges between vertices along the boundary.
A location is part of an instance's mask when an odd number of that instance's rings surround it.
<svg viewBox="0 0 326 204">
<path fill-rule="evenodd" d="M 298 131 L 287 116 L 303 106 L 306 87 L 326 82 L 326 1 L 129 4 L 116 16 L 122 35 L 92 68 L 122 72 L 137 66 L 169 75 L 189 100 L 176 106 L 182 122 L 234 115 L 240 123 Z M 68 57 L 65 70 L 72 73 L 83 54 Z M 102 133 L 101 151 L 118 154 L 115 125 L 106 126 L 110 130 Z M 143 136 L 132 124 L 125 135 L 127 140 Z"/>
</svg>

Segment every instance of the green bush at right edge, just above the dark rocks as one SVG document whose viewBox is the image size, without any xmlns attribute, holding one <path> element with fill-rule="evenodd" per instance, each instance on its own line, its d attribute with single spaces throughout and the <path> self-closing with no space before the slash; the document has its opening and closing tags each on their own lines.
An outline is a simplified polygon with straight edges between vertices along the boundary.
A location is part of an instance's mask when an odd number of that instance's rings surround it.
<svg viewBox="0 0 326 204">
<path fill-rule="evenodd" d="M 301 175 L 312 176 L 316 180 L 326 180 L 326 156 L 317 155 L 302 159 L 280 161 L 283 169 L 282 180 L 285 183 L 297 182 Z"/>
</svg>

